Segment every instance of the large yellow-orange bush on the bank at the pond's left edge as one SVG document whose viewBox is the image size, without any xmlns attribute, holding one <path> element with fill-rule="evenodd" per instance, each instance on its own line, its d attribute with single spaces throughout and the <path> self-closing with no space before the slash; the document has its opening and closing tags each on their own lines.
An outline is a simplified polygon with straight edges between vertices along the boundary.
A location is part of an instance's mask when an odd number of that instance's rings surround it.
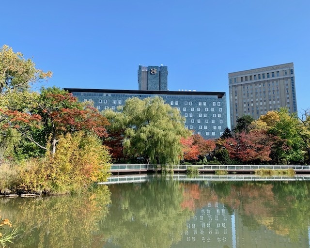
<svg viewBox="0 0 310 248">
<path fill-rule="evenodd" d="M 109 177 L 108 149 L 93 135 L 77 132 L 59 139 L 54 155 L 20 162 L 8 186 L 16 193 L 66 194 Z M 9 182 L 7 183 L 9 184 Z"/>
</svg>

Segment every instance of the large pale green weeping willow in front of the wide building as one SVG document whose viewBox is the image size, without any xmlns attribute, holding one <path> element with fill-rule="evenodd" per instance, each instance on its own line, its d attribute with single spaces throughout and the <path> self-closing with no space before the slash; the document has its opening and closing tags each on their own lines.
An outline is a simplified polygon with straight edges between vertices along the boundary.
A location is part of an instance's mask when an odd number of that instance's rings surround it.
<svg viewBox="0 0 310 248">
<path fill-rule="evenodd" d="M 125 101 L 121 113 L 108 111 L 111 125 L 124 129 L 124 153 L 144 157 L 146 163 L 176 164 L 182 157 L 181 137 L 190 135 L 179 110 L 161 97 Z"/>
</svg>

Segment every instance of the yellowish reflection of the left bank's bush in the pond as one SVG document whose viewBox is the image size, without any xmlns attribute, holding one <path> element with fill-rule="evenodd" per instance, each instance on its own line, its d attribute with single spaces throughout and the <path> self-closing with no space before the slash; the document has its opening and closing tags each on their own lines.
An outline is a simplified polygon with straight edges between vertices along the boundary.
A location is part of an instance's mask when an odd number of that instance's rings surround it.
<svg viewBox="0 0 310 248">
<path fill-rule="evenodd" d="M 19 229 L 12 248 L 99 248 L 108 214 L 107 186 L 85 195 L 0 199 L 1 214 Z"/>
</svg>

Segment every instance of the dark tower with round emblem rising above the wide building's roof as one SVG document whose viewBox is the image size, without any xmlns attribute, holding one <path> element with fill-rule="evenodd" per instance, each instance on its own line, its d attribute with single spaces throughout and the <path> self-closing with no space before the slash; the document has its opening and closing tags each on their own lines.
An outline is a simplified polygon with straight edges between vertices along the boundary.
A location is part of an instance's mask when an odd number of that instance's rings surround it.
<svg viewBox="0 0 310 248">
<path fill-rule="evenodd" d="M 167 66 L 139 65 L 138 84 L 140 91 L 168 91 Z"/>
</svg>

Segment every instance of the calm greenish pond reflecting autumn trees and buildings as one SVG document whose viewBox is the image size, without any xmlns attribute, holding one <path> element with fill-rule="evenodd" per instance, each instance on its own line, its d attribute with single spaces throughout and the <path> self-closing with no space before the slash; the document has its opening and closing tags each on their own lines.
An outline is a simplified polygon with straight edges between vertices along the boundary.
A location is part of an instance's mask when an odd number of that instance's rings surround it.
<svg viewBox="0 0 310 248">
<path fill-rule="evenodd" d="M 0 198 L 19 229 L 10 247 L 310 248 L 307 176 L 113 178 L 84 195 Z"/>
</svg>

